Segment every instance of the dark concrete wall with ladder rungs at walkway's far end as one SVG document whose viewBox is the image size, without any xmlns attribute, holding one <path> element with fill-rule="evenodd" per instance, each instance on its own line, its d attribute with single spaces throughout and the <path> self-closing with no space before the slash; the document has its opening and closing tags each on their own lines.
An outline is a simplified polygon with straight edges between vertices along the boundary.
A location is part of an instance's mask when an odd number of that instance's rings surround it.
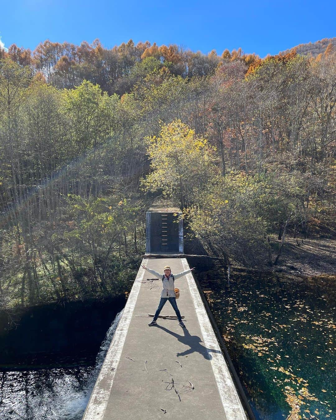
<svg viewBox="0 0 336 420">
<path fill-rule="evenodd" d="M 153 204 L 146 213 L 146 253 L 182 253 L 183 220 L 178 207 Z"/>
</svg>

